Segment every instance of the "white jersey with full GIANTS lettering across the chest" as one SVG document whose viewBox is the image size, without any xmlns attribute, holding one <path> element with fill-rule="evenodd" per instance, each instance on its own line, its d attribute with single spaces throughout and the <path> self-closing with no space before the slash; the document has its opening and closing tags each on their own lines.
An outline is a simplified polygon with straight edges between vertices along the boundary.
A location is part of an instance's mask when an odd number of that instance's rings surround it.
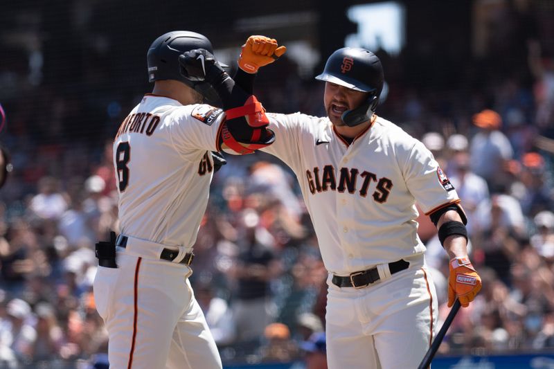
<svg viewBox="0 0 554 369">
<path fill-rule="evenodd" d="M 352 144 L 328 118 L 267 114 L 275 143 L 263 149 L 295 172 L 328 271 L 348 275 L 421 254 L 425 213 L 459 202 L 433 155 L 400 127 L 373 116 Z"/>
</svg>

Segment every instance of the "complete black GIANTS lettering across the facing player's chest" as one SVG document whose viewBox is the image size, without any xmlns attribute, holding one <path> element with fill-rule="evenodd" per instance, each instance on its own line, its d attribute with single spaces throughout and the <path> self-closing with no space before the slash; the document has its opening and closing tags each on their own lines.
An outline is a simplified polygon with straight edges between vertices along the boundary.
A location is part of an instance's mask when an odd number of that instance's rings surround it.
<svg viewBox="0 0 554 369">
<path fill-rule="evenodd" d="M 371 186 L 372 189 L 375 188 L 371 194 L 373 199 L 384 203 L 393 188 L 393 181 L 390 179 L 386 177 L 377 179 L 377 174 L 366 170 L 360 173 L 357 168 L 340 168 L 337 173 L 332 165 L 325 165 L 323 170 L 318 167 L 313 171 L 306 170 L 306 177 L 312 195 L 316 192 L 333 190 L 348 191 L 350 194 L 358 192 L 361 197 L 366 197 Z"/>
</svg>

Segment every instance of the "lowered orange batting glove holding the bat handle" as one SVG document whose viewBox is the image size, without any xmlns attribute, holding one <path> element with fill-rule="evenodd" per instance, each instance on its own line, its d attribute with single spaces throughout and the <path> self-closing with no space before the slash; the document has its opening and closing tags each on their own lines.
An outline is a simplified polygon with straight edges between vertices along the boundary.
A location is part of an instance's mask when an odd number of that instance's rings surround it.
<svg viewBox="0 0 554 369">
<path fill-rule="evenodd" d="M 456 296 L 461 305 L 467 307 L 479 291 L 481 291 L 481 277 L 475 271 L 470 259 L 466 256 L 450 260 L 448 307 L 454 305 Z"/>
</svg>

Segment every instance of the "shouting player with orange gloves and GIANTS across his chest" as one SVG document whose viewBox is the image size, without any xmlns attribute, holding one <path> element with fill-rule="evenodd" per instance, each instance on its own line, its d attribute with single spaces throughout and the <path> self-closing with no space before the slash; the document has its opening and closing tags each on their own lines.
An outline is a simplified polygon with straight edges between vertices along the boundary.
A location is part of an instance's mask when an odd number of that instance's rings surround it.
<svg viewBox="0 0 554 369">
<path fill-rule="evenodd" d="M 242 47 L 235 81 L 249 92 L 259 66 L 273 61 L 260 52 L 267 44 L 276 41 L 251 36 Z M 451 259 L 449 306 L 458 298 L 467 307 L 481 289 L 465 213 L 431 152 L 375 114 L 384 82 L 376 55 L 340 48 L 316 79 L 327 116 L 267 114 L 276 140 L 262 151 L 296 173 L 329 271 L 329 368 L 414 368 L 437 324 L 415 202 Z"/>
</svg>

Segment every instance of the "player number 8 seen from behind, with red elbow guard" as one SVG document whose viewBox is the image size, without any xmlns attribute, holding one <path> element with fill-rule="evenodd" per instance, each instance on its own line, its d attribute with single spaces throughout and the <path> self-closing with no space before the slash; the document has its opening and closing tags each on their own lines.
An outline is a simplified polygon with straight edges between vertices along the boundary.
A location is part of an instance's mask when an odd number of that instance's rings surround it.
<svg viewBox="0 0 554 369">
<path fill-rule="evenodd" d="M 157 38 L 147 57 L 154 89 L 116 134 L 121 233 L 97 244 L 93 284 L 110 368 L 222 368 L 188 281 L 215 171 L 211 152 L 252 152 L 274 134 L 260 102 L 235 88 L 211 52 L 198 33 Z M 217 98 L 223 109 L 202 103 Z"/>
</svg>

